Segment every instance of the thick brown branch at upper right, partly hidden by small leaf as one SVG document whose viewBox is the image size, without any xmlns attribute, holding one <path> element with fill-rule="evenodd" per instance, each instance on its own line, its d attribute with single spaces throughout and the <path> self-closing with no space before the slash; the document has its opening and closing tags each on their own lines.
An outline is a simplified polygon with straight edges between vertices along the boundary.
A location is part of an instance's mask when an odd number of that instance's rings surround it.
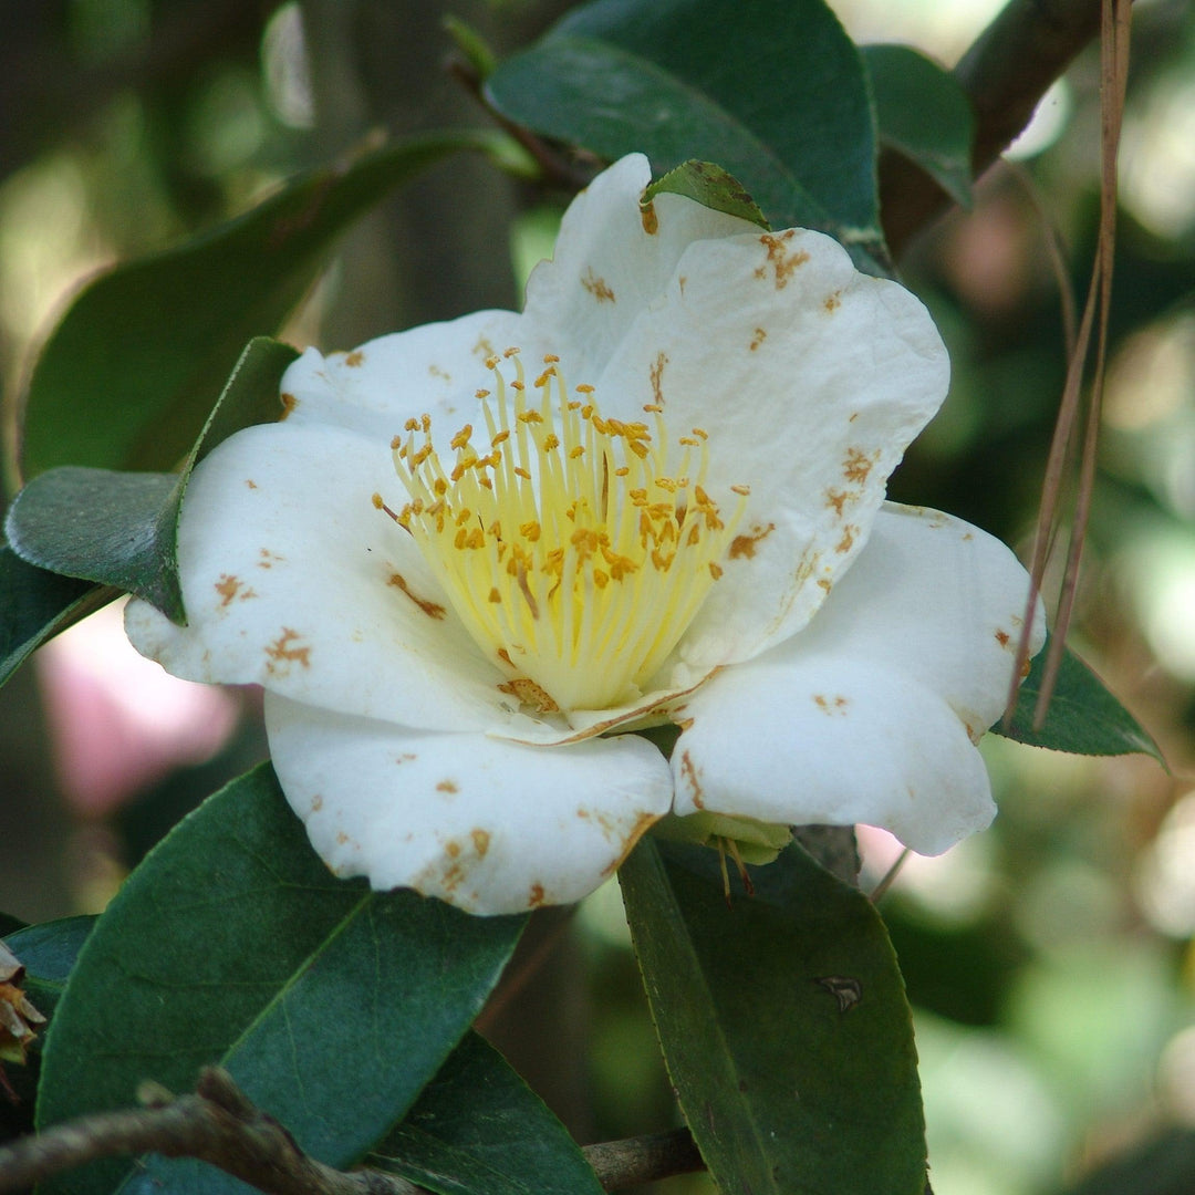
<svg viewBox="0 0 1195 1195">
<path fill-rule="evenodd" d="M 1038 100 L 1099 30 L 1099 0 L 1010 0 L 954 69 L 975 112 L 975 177 L 1029 123 Z M 893 256 L 950 197 L 908 159 L 880 159 L 880 210 Z"/>
</svg>

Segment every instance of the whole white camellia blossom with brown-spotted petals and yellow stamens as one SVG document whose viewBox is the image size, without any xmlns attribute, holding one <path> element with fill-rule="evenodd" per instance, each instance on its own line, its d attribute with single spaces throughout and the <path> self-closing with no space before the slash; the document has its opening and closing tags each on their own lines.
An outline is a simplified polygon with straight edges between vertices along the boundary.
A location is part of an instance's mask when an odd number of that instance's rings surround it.
<svg viewBox="0 0 1195 1195">
<path fill-rule="evenodd" d="M 583 896 L 669 811 L 924 853 L 993 815 L 975 743 L 1025 574 L 884 502 L 946 391 L 929 314 L 649 178 L 631 155 L 576 198 L 521 314 L 308 350 L 283 419 L 195 471 L 188 625 L 128 607 L 170 672 L 264 686 L 339 876 L 507 913 Z M 670 759 L 623 733 L 666 723 Z"/>
</svg>

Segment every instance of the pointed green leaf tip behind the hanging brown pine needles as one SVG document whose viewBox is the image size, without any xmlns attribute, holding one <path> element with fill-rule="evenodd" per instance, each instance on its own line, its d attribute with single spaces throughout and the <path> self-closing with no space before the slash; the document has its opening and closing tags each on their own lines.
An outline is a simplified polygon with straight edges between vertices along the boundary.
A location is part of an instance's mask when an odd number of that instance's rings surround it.
<svg viewBox="0 0 1195 1195">
<path fill-rule="evenodd" d="M 1108 686 L 1070 648 L 1062 655 L 1054 695 L 1041 730 L 1034 730 L 1034 709 L 1041 692 L 1048 644 L 1037 652 L 1021 686 L 1007 730 L 992 730 L 1017 742 L 1076 755 L 1128 755 L 1144 752 L 1165 765 L 1162 749 L 1113 695 Z"/>
</svg>

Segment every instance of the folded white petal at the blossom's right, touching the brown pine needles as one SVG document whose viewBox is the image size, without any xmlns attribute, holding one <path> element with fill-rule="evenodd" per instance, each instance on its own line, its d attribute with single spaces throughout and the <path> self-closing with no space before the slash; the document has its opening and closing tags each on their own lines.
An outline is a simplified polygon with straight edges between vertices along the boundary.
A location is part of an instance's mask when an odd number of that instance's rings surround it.
<svg viewBox="0 0 1195 1195">
<path fill-rule="evenodd" d="M 994 807 L 973 740 L 1004 707 L 1027 592 L 991 535 L 885 507 L 805 631 L 688 699 L 676 811 L 865 822 L 929 854 L 981 829 Z"/>
</svg>

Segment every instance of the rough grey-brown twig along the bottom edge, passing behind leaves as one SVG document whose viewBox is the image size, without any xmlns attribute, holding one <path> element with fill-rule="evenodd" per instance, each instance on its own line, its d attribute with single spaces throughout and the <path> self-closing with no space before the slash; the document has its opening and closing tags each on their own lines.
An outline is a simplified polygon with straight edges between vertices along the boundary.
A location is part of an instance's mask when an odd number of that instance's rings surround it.
<svg viewBox="0 0 1195 1195">
<path fill-rule="evenodd" d="M 272 1116 L 256 1108 L 227 1071 L 201 1072 L 195 1095 L 151 1089 L 151 1107 L 82 1116 L 0 1150 L 0 1195 L 102 1158 L 160 1153 L 197 1158 L 266 1195 L 427 1195 L 380 1170 L 342 1171 L 299 1148 Z M 606 1190 L 703 1168 L 688 1129 L 588 1145 L 582 1151 Z"/>
</svg>

